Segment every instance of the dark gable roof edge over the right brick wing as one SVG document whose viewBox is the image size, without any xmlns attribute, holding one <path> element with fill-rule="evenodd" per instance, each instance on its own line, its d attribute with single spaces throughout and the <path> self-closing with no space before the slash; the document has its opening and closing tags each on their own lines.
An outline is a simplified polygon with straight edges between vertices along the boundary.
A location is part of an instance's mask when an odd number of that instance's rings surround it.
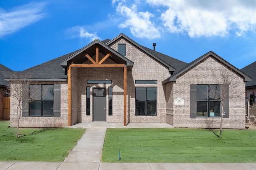
<svg viewBox="0 0 256 170">
<path fill-rule="evenodd" d="M 172 76 L 170 76 L 169 78 L 167 78 L 166 80 L 164 80 L 162 82 L 162 84 L 166 84 L 168 82 L 173 82 L 176 81 L 177 77 L 180 76 L 181 74 L 183 74 L 184 72 L 186 72 L 187 70 L 189 70 L 190 68 L 192 68 L 193 66 L 195 66 L 196 64 L 200 63 L 202 60 L 206 59 L 207 57 L 212 56 L 214 57 L 214 59 L 224 63 L 225 65 L 227 65 L 228 67 L 230 67 L 232 70 L 236 71 L 241 77 L 244 78 L 244 81 L 251 81 L 252 79 L 244 74 L 244 72 L 242 72 L 241 70 L 239 70 L 238 68 L 236 68 L 235 66 L 233 66 L 232 64 L 228 63 L 226 60 L 222 59 L 220 56 L 216 55 L 214 52 L 209 51 L 208 53 L 202 55 L 201 57 L 199 57 L 198 59 L 192 61 L 191 63 L 187 64 L 186 66 L 184 66 L 183 68 L 181 68 L 180 70 L 177 70 Z"/>
</svg>

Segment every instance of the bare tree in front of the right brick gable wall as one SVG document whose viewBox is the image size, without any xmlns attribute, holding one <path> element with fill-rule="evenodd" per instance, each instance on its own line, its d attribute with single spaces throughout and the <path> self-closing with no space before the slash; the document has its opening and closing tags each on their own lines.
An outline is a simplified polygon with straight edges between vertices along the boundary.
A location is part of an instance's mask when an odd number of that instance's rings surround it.
<svg viewBox="0 0 256 170">
<path fill-rule="evenodd" d="M 244 92 L 236 90 L 242 83 L 242 79 L 238 78 L 236 71 L 225 64 L 219 67 L 218 72 L 212 72 L 214 80 L 217 84 L 220 84 L 220 90 L 216 86 L 210 87 L 208 96 L 221 102 L 221 119 L 220 119 L 220 133 L 218 137 L 222 136 L 222 123 L 224 112 L 224 100 L 230 100 L 232 98 L 239 98 L 244 95 Z"/>
</svg>

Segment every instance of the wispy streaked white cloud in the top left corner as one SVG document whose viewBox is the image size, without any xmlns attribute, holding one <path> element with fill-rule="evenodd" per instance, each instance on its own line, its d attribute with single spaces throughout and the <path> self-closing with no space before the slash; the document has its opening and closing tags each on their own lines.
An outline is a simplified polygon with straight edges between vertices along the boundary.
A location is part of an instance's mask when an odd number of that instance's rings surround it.
<svg viewBox="0 0 256 170">
<path fill-rule="evenodd" d="M 42 19 L 44 3 L 29 3 L 6 12 L 0 8 L 0 37 L 19 31 L 20 29 Z"/>
</svg>

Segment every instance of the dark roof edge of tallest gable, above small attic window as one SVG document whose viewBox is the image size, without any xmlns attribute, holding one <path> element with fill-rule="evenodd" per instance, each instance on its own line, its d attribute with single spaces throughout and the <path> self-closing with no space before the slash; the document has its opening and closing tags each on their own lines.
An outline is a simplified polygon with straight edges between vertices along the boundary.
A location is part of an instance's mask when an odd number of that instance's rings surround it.
<svg viewBox="0 0 256 170">
<path fill-rule="evenodd" d="M 130 39 L 129 37 L 127 37 L 126 35 L 124 35 L 124 33 L 120 33 L 118 36 L 116 36 L 114 39 L 108 41 L 108 43 L 106 43 L 106 45 L 110 45 L 111 43 L 113 43 L 114 41 L 120 39 L 120 38 L 124 38 L 126 40 L 128 40 L 130 43 L 132 43 L 135 47 L 137 47 L 138 49 L 144 51 L 146 54 L 150 55 L 152 58 L 156 59 L 157 61 L 159 61 L 160 63 L 162 63 L 164 66 L 166 66 L 167 68 L 169 68 L 170 72 L 174 72 L 175 68 L 167 63 L 166 61 L 164 61 L 161 57 L 158 57 L 158 55 L 155 55 L 154 53 L 152 53 L 151 50 L 145 49 L 143 46 L 139 45 L 138 43 L 136 43 L 135 41 L 133 41 L 132 39 Z"/>
</svg>

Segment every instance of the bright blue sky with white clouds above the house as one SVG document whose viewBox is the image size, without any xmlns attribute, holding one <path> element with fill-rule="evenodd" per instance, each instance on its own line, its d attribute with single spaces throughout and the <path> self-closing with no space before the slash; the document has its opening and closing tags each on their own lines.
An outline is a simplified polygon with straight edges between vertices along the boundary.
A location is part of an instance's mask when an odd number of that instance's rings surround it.
<svg viewBox="0 0 256 170">
<path fill-rule="evenodd" d="M 0 63 L 14 71 L 124 33 L 190 63 L 213 51 L 237 68 L 256 61 L 256 0 L 0 1 Z"/>
</svg>

